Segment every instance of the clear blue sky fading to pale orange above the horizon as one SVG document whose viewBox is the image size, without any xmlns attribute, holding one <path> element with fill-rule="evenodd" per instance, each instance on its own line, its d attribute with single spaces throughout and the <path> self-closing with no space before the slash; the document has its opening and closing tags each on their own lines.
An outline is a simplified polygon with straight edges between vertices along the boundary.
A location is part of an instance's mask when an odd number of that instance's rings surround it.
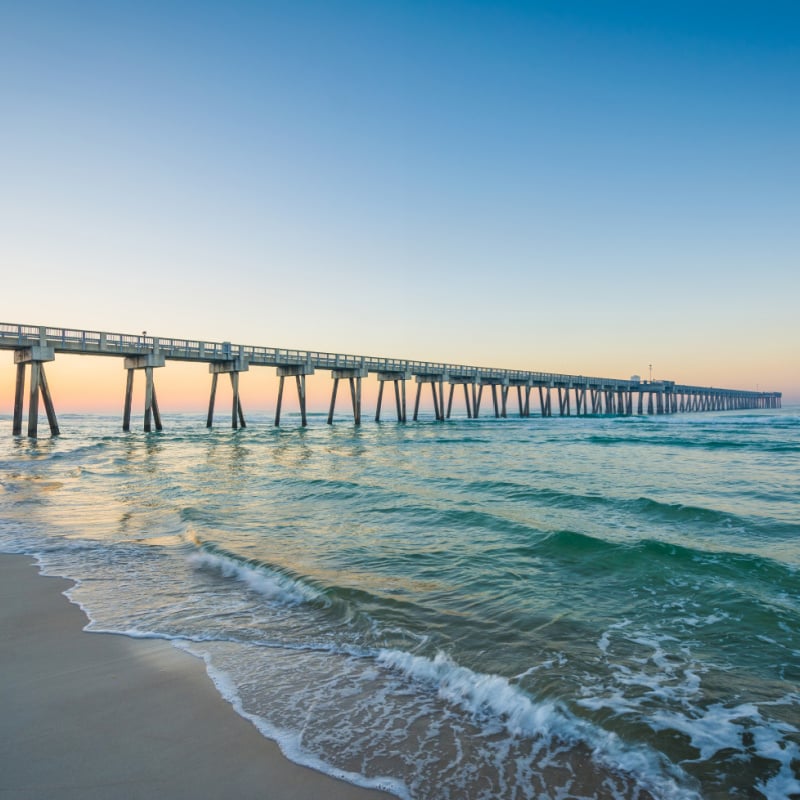
<svg viewBox="0 0 800 800">
<path fill-rule="evenodd" d="M 0 121 L 0 322 L 800 402 L 795 2 L 0 0 Z"/>
</svg>

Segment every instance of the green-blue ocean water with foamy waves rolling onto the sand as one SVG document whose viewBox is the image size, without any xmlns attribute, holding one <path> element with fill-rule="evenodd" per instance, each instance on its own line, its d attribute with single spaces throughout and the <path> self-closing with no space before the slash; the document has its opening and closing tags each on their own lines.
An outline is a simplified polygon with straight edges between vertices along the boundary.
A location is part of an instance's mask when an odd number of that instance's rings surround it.
<svg viewBox="0 0 800 800">
<path fill-rule="evenodd" d="M 800 409 L 0 418 L 0 550 L 401 798 L 800 796 Z"/>
</svg>

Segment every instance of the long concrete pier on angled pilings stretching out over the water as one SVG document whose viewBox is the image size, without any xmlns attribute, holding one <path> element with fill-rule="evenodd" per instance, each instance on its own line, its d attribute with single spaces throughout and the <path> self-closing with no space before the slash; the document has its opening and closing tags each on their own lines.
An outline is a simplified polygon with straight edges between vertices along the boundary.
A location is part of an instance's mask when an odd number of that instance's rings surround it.
<svg viewBox="0 0 800 800">
<path fill-rule="evenodd" d="M 28 383 L 27 435 L 38 435 L 39 404 L 44 405 L 52 435 L 58 435 L 55 404 L 45 375 L 45 364 L 56 355 L 78 354 L 115 357 L 122 360 L 127 371 L 123 400 L 122 428 L 130 430 L 131 408 L 136 373 L 144 374 L 144 430 L 163 429 L 155 386 L 155 371 L 168 361 L 191 361 L 206 364 L 211 386 L 206 425 L 214 420 L 214 405 L 219 376 L 227 374 L 233 389 L 231 427 L 245 427 L 245 416 L 239 398 L 239 377 L 251 367 L 272 367 L 279 378 L 275 425 L 280 425 L 284 381 L 294 378 L 300 404 L 301 425 L 308 424 L 306 413 L 306 377 L 317 370 L 327 370 L 333 380 L 327 422 L 333 423 L 339 382 L 346 380 L 350 389 L 353 422 L 361 424 L 361 385 L 374 376 L 378 382 L 378 402 L 375 420 L 381 416 L 384 385 L 391 381 L 394 389 L 397 421 L 406 419 L 406 383 L 415 381 L 416 394 L 412 420 L 419 416 L 423 387 L 430 387 L 436 420 L 449 419 L 454 394 L 463 388 L 464 404 L 469 419 L 481 413 L 483 390 L 491 394 L 491 414 L 501 418 L 508 415 L 509 394 L 517 400 L 520 417 L 530 417 L 531 393 L 536 390 L 539 415 L 550 417 L 555 409 L 558 416 L 597 416 L 634 414 L 678 414 L 701 411 L 734 411 L 740 409 L 780 408 L 780 392 L 720 389 L 709 386 L 688 386 L 674 381 L 642 381 L 618 378 L 564 375 L 528 370 L 471 367 L 429 361 L 411 361 L 375 356 L 356 356 L 312 350 L 285 350 L 274 347 L 205 342 L 192 339 L 172 339 L 146 334 L 104 333 L 71 328 L 51 328 L 36 325 L 0 323 L 0 350 L 13 352 L 17 366 L 14 393 L 12 434 L 22 435 L 26 376 Z M 448 389 L 445 409 L 445 386 Z M 513 390 L 513 391 L 512 391 Z M 425 389 L 428 392 L 428 389 Z M 573 405 L 574 403 L 574 405 Z"/>
</svg>

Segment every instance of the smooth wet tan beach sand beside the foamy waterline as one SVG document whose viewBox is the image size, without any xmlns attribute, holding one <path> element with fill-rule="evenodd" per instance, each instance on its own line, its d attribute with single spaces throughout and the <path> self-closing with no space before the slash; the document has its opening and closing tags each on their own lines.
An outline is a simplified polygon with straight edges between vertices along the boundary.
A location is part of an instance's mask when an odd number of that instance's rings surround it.
<svg viewBox="0 0 800 800">
<path fill-rule="evenodd" d="M 169 643 L 86 633 L 33 559 L 0 555 L 0 797 L 392 797 L 283 757 Z"/>
</svg>

